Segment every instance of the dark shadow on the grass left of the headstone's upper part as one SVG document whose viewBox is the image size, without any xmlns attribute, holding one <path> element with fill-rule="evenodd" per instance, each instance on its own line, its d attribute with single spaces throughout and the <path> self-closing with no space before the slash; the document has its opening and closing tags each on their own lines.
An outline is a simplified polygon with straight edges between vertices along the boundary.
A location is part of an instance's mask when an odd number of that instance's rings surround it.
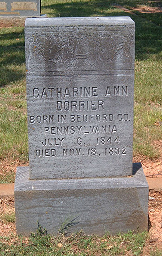
<svg viewBox="0 0 162 256">
<path fill-rule="evenodd" d="M 12 28 L 13 29 L 13 28 Z M 6 31 L 6 30 L 5 30 Z M 10 43 L 11 41 L 11 43 Z M 21 80 L 25 72 L 24 30 L 0 34 L 0 87 Z"/>
</svg>

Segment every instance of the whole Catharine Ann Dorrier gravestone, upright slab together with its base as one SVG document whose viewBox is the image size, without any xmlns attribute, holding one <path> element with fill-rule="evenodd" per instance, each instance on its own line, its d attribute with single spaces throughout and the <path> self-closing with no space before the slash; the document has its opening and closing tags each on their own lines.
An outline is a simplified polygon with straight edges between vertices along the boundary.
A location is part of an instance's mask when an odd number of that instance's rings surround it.
<svg viewBox="0 0 162 256">
<path fill-rule="evenodd" d="M 29 167 L 17 169 L 18 234 L 147 229 L 132 167 L 135 25 L 130 17 L 26 19 Z"/>
</svg>

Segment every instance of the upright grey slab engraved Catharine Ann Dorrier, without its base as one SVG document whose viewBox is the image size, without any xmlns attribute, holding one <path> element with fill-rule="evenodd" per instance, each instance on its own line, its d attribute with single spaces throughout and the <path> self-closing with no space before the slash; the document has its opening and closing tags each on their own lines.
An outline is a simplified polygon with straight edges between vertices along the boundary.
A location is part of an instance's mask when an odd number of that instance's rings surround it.
<svg viewBox="0 0 162 256">
<path fill-rule="evenodd" d="M 30 179 L 132 175 L 130 17 L 26 19 Z"/>
</svg>

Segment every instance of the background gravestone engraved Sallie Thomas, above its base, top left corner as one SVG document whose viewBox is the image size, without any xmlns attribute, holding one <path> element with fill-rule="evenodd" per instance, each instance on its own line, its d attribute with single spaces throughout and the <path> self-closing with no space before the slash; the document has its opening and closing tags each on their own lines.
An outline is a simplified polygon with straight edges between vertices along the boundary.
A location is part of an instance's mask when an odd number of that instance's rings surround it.
<svg viewBox="0 0 162 256">
<path fill-rule="evenodd" d="M 40 16 L 40 0 L 0 1 L 0 16 Z"/>
</svg>

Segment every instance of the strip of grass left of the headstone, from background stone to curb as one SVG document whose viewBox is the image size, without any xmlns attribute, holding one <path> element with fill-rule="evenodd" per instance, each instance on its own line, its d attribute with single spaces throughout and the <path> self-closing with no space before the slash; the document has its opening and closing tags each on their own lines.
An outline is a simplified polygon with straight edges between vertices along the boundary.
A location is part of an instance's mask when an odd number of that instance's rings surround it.
<svg viewBox="0 0 162 256">
<path fill-rule="evenodd" d="M 0 29 L 0 158 L 28 158 L 24 28 Z"/>
</svg>

